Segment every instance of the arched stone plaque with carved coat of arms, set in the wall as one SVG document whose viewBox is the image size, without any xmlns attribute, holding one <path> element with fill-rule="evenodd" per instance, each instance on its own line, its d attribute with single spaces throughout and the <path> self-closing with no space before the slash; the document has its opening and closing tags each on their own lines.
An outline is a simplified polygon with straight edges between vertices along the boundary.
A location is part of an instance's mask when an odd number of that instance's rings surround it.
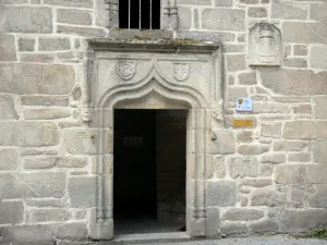
<svg viewBox="0 0 327 245">
<path fill-rule="evenodd" d="M 281 65 L 281 32 L 274 24 L 257 23 L 249 32 L 250 65 Z"/>
</svg>

